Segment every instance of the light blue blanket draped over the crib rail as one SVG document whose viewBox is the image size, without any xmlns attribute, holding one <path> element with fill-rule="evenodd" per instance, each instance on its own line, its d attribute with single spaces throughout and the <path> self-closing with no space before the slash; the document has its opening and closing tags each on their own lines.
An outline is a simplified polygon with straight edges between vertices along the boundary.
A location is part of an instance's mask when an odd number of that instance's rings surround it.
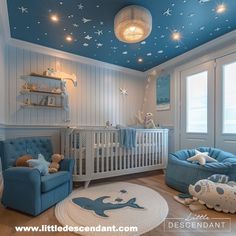
<svg viewBox="0 0 236 236">
<path fill-rule="evenodd" d="M 120 146 L 124 148 L 135 148 L 136 146 L 136 129 L 120 128 Z"/>
</svg>

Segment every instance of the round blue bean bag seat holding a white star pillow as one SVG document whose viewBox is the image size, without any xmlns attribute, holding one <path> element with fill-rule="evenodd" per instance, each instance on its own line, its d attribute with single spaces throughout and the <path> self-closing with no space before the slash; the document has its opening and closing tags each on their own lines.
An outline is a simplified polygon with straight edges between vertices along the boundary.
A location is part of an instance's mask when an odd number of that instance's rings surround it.
<svg viewBox="0 0 236 236">
<path fill-rule="evenodd" d="M 166 184 L 180 192 L 187 193 L 190 184 L 207 179 L 213 174 L 228 175 L 236 181 L 236 156 L 217 148 L 200 147 L 200 152 L 208 152 L 217 162 L 209 162 L 204 166 L 187 161 L 195 155 L 195 149 L 180 150 L 170 153 L 165 174 Z"/>
</svg>

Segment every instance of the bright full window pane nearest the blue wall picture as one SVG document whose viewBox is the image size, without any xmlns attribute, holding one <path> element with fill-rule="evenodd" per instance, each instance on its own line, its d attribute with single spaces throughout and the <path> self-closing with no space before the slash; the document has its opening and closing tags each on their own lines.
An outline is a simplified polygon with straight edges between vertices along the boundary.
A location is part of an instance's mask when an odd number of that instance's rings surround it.
<svg viewBox="0 0 236 236">
<path fill-rule="evenodd" d="M 188 133 L 207 133 L 207 78 L 207 71 L 186 78 Z"/>
</svg>

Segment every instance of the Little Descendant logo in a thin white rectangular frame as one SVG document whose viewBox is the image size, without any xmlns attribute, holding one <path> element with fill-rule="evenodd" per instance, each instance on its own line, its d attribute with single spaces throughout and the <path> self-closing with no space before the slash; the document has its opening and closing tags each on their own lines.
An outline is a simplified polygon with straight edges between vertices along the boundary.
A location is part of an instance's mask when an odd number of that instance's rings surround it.
<svg viewBox="0 0 236 236">
<path fill-rule="evenodd" d="M 231 232 L 230 218 L 209 218 L 207 215 L 190 213 L 185 218 L 166 218 L 165 232 Z"/>
</svg>

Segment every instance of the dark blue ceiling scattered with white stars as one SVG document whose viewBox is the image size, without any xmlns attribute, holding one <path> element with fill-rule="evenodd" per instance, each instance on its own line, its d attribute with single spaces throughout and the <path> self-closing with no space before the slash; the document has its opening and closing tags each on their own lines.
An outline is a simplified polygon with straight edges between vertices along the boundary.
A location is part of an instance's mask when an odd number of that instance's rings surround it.
<svg viewBox="0 0 236 236">
<path fill-rule="evenodd" d="M 226 11 L 216 12 L 220 3 Z M 146 71 L 236 29 L 236 0 L 8 0 L 11 36 L 139 71 Z M 125 44 L 114 35 L 124 6 L 146 7 L 153 30 L 143 42 Z M 59 22 L 50 20 L 57 14 Z M 173 41 L 174 31 L 181 33 Z M 71 35 L 72 42 L 65 40 Z M 138 62 L 142 58 L 143 62 Z"/>
</svg>

